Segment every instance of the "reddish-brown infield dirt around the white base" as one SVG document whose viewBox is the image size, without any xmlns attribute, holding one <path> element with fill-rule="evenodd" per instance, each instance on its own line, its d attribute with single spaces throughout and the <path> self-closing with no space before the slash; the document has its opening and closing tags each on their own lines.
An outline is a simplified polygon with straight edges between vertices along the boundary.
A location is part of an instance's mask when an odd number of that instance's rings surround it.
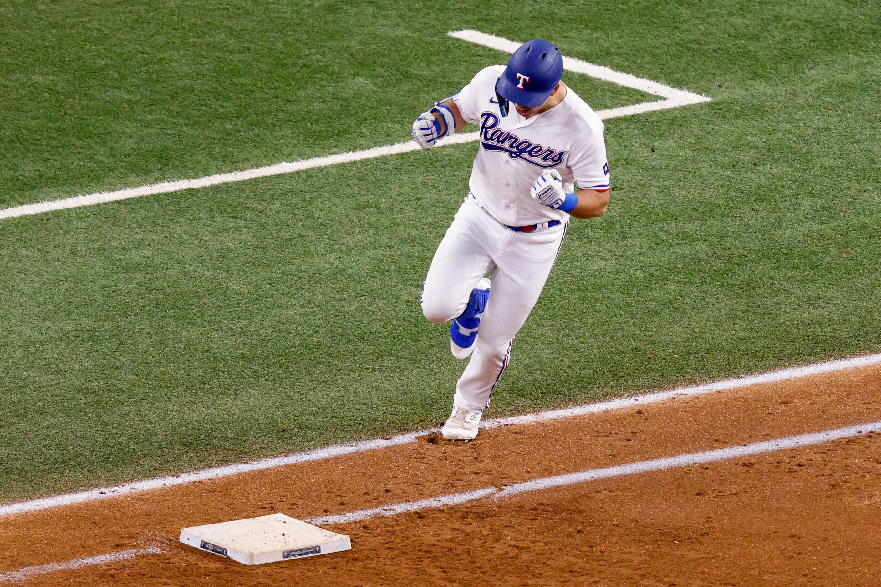
<svg viewBox="0 0 881 587">
<path fill-rule="evenodd" d="M 352 551 L 260 567 L 176 539 L 873 422 L 879 392 L 873 366 L 4 517 L 0 572 L 157 543 L 27 584 L 877 585 L 877 434 L 333 525 Z"/>
</svg>

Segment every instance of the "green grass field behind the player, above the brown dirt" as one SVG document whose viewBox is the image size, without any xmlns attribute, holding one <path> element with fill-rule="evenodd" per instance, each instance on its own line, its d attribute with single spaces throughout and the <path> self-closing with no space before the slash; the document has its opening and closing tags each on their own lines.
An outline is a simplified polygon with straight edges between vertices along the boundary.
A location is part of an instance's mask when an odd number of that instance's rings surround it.
<svg viewBox="0 0 881 587">
<path fill-rule="evenodd" d="M 489 415 L 881 348 L 877 2 L 0 17 L 0 208 L 403 141 L 507 62 L 451 28 L 712 97 L 607 121 L 611 208 L 572 224 Z M 0 501 L 441 422 L 463 363 L 418 294 L 476 149 L 0 221 Z"/>
</svg>

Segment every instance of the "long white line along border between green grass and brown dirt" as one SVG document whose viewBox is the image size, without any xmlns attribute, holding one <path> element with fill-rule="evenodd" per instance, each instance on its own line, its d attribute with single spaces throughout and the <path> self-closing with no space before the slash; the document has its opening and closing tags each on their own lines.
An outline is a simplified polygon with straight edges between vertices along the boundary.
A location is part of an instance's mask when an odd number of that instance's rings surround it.
<svg viewBox="0 0 881 587">
<path fill-rule="evenodd" d="M 760 375 L 751 377 L 724 379 L 714 383 L 704 385 L 691 385 L 688 387 L 679 387 L 664 392 L 647 393 L 618 400 L 602 401 L 584 406 L 568 407 L 566 409 L 549 410 L 538 412 L 537 414 L 515 415 L 507 418 L 497 418 L 485 420 L 481 422 L 482 429 L 492 429 L 499 426 L 507 426 L 512 424 L 529 424 L 533 422 L 545 422 L 550 420 L 559 420 L 563 418 L 571 418 L 580 415 L 597 414 L 607 412 L 609 410 L 619 409 L 622 407 L 643 406 L 658 401 L 670 400 L 677 397 L 696 396 L 704 393 L 721 392 L 728 389 L 736 389 L 738 387 L 747 387 L 749 385 L 760 385 L 774 383 L 775 381 L 783 381 L 786 379 L 807 377 L 810 375 L 819 375 L 830 371 L 841 371 L 846 369 L 855 369 L 857 367 L 865 367 L 881 363 L 881 353 L 874 355 L 855 356 L 848 359 L 838 359 L 825 363 L 814 363 L 803 367 L 793 367 L 790 369 L 782 369 L 780 371 L 770 371 Z M 181 473 L 170 477 L 159 477 L 157 479 L 147 479 L 144 481 L 135 481 L 125 485 L 117 485 L 107 488 L 89 489 L 78 493 L 70 493 L 64 495 L 55 495 L 52 497 L 44 497 L 41 499 L 33 499 L 20 503 L 9 503 L 0 506 L 0 517 L 10 516 L 11 514 L 20 514 L 27 511 L 46 510 L 63 505 L 72 505 L 74 503 L 93 502 L 108 497 L 116 497 L 118 495 L 130 495 L 133 493 L 146 491 L 149 489 L 157 489 L 163 487 L 172 487 L 174 485 L 183 485 L 194 481 L 206 481 L 217 479 L 219 477 L 228 477 L 239 473 L 250 473 L 252 471 L 260 471 L 263 469 L 271 469 L 278 466 L 296 465 L 308 461 L 330 459 L 345 454 L 355 452 L 374 451 L 376 449 L 396 446 L 398 444 L 409 444 L 416 442 L 417 437 L 424 436 L 437 429 L 427 429 L 418 432 L 409 432 L 407 434 L 397 435 L 389 438 L 376 438 L 374 440 L 365 440 L 351 444 L 337 444 L 328 446 L 315 451 L 298 452 L 291 455 L 281 457 L 270 457 L 268 459 L 259 459 L 247 463 L 239 463 L 236 465 L 215 466 L 201 471 L 191 473 Z"/>
</svg>

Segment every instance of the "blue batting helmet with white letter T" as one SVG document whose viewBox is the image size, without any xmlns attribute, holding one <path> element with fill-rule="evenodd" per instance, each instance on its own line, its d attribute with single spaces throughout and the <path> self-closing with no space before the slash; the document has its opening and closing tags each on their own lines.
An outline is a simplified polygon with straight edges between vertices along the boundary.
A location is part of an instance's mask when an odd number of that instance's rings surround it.
<svg viewBox="0 0 881 587">
<path fill-rule="evenodd" d="M 563 55 L 557 46 L 544 39 L 528 40 L 511 55 L 496 82 L 496 93 L 500 103 L 506 99 L 527 108 L 541 106 L 560 77 Z"/>
</svg>

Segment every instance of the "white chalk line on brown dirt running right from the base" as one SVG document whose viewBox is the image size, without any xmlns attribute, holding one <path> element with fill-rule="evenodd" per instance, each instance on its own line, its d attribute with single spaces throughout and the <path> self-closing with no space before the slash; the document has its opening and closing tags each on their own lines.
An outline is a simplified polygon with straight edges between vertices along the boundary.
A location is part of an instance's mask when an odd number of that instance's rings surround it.
<svg viewBox="0 0 881 587">
<path fill-rule="evenodd" d="M 628 463 L 626 465 L 603 466 L 602 468 L 579 471 L 578 473 L 567 473 L 565 475 L 523 481 L 522 483 L 514 483 L 513 485 L 507 485 L 500 488 L 490 487 L 476 489 L 466 493 L 423 499 L 418 502 L 395 503 L 381 508 L 350 511 L 336 516 L 314 517 L 307 520 L 307 522 L 316 525 L 344 524 L 346 522 L 359 522 L 371 517 L 396 516 L 397 514 L 402 514 L 407 511 L 433 510 L 448 505 L 472 502 L 487 496 L 492 496 L 492 499 L 502 499 L 504 497 L 510 497 L 511 495 L 527 493 L 529 491 L 541 491 L 542 489 L 565 487 L 567 485 L 576 485 L 587 481 L 609 479 L 611 477 L 621 477 L 636 473 L 662 471 L 663 469 L 671 469 L 679 466 L 737 459 L 738 457 L 747 457 L 761 454 L 763 452 L 785 451 L 800 446 L 809 446 L 811 444 L 821 444 L 833 440 L 840 440 L 841 438 L 858 437 L 876 430 L 881 430 L 881 421 L 868 422 L 858 426 L 848 426 L 846 428 L 824 430 L 822 432 L 812 432 L 811 434 L 803 434 L 797 437 L 766 440 L 764 442 L 746 444 L 744 446 L 729 446 L 728 448 L 716 449 L 714 451 L 692 452 L 690 454 L 681 454 L 674 457 L 664 457 L 663 459 L 642 460 L 636 463 Z"/>
</svg>

